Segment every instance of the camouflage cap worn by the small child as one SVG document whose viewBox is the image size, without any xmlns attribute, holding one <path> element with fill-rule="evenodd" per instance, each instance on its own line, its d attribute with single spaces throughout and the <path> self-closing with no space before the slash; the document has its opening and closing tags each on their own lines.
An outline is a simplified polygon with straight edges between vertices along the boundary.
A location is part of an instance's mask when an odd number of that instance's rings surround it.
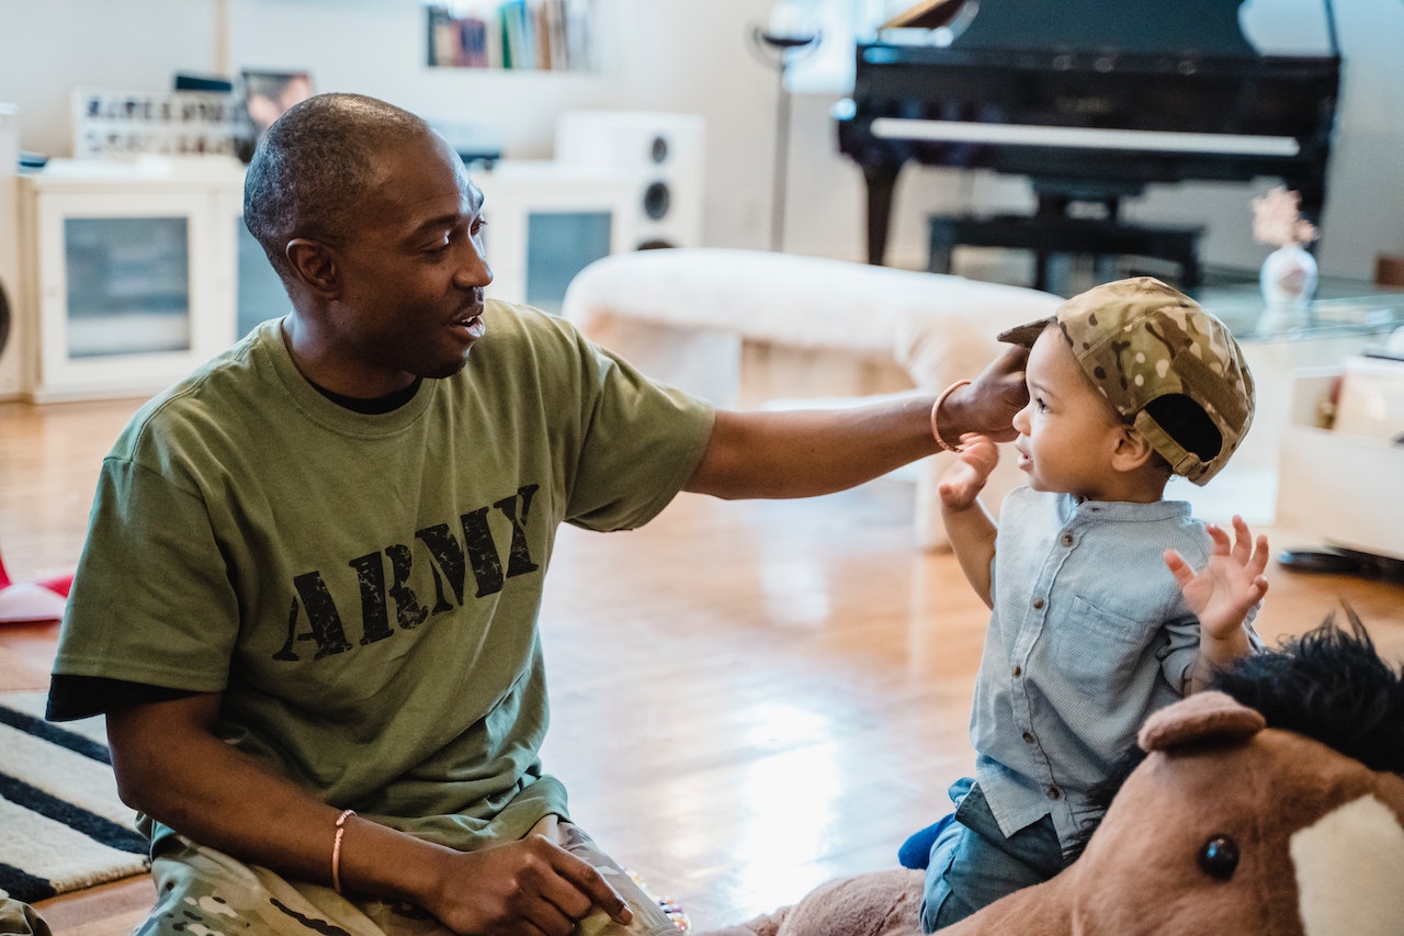
<svg viewBox="0 0 1404 936">
<path fill-rule="evenodd" d="M 1000 334 L 1032 347 L 1057 323 L 1092 386 L 1170 462 L 1202 485 L 1227 464 L 1252 424 L 1252 375 L 1228 327 L 1154 277 L 1094 287 L 1050 318 Z M 1217 446 L 1189 443 L 1185 423 Z M 1191 451 L 1191 446 L 1198 448 Z"/>
</svg>

